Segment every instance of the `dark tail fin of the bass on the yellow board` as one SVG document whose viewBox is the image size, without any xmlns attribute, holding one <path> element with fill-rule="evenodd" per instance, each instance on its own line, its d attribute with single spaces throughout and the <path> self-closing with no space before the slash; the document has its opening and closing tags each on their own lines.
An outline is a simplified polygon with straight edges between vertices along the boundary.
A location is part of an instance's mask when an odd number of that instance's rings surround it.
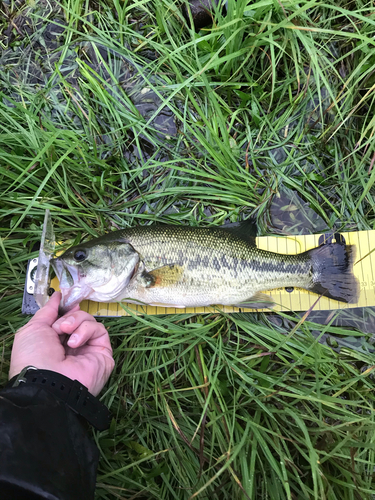
<svg viewBox="0 0 375 500">
<path fill-rule="evenodd" d="M 307 253 L 312 263 L 309 290 L 341 302 L 358 302 L 359 283 L 353 274 L 354 246 L 330 243 Z"/>
</svg>

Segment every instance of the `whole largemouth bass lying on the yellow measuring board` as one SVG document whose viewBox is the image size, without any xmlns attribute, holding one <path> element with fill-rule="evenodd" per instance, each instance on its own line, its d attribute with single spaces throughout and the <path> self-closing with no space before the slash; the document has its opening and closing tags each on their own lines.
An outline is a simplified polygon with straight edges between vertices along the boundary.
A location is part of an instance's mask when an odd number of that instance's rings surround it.
<svg viewBox="0 0 375 500">
<path fill-rule="evenodd" d="M 296 255 L 261 250 L 249 223 L 198 228 L 151 225 L 115 231 L 52 260 L 61 312 L 81 300 L 171 307 L 269 307 L 277 287 L 301 287 L 354 303 L 353 246 L 325 244 Z"/>
</svg>

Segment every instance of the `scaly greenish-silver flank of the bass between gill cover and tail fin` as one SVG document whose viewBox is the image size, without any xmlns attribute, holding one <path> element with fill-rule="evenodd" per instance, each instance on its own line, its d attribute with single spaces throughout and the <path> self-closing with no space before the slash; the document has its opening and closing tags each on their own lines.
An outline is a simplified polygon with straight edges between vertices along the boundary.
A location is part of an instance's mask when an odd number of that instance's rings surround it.
<svg viewBox="0 0 375 500">
<path fill-rule="evenodd" d="M 260 250 L 225 229 L 147 226 L 120 231 L 119 235 L 140 254 L 146 270 L 165 265 L 183 268 L 180 279 L 168 287 L 147 288 L 134 282 L 121 299 L 179 307 L 234 305 L 270 288 L 307 288 L 311 284 L 306 255 L 296 258 Z M 181 295 L 183 300 L 176 302 Z"/>
</svg>

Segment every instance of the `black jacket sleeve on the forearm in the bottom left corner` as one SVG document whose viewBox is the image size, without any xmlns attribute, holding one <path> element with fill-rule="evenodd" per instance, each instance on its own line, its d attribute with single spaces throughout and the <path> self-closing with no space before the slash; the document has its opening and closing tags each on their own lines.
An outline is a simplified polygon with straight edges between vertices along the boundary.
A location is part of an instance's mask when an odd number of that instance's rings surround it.
<svg viewBox="0 0 375 500">
<path fill-rule="evenodd" d="M 43 388 L 0 391 L 0 498 L 91 500 L 99 452 L 85 425 Z"/>
</svg>

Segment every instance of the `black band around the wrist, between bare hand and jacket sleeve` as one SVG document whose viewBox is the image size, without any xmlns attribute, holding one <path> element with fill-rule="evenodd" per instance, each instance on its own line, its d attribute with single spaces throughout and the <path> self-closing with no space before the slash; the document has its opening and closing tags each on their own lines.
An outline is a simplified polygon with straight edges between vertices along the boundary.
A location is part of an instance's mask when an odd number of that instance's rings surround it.
<svg viewBox="0 0 375 500">
<path fill-rule="evenodd" d="M 9 380 L 6 387 L 16 388 L 22 385 L 33 385 L 52 393 L 100 431 L 109 427 L 111 414 L 108 408 L 78 380 L 72 380 L 51 370 L 26 366 Z"/>
</svg>

